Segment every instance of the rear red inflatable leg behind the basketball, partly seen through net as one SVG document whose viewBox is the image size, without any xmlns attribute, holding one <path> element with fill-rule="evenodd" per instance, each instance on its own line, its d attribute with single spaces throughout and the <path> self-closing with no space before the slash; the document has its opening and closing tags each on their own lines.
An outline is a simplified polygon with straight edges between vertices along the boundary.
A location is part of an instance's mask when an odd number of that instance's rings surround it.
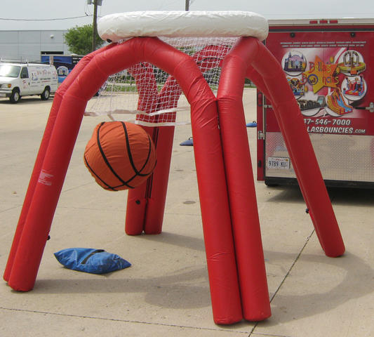
<svg viewBox="0 0 374 337">
<path fill-rule="evenodd" d="M 169 76 L 159 93 L 151 65 L 137 65 L 131 67 L 129 71 L 135 78 L 138 88 L 139 110 L 152 113 L 176 107 L 182 91 L 180 88 L 176 91 L 173 89 L 175 92 L 173 96 L 171 95 L 171 88 L 177 86 L 173 77 Z M 145 76 L 145 72 L 147 76 Z M 149 104 L 149 102 L 152 103 Z M 158 116 L 152 117 L 155 120 L 158 118 Z M 173 149 L 174 126 L 143 126 L 143 128 L 154 141 L 157 164 L 152 176 L 147 179 L 145 184 L 128 191 L 125 231 L 126 234 L 131 235 L 141 234 L 143 230 L 146 234 L 159 234 L 162 230 Z"/>
</svg>

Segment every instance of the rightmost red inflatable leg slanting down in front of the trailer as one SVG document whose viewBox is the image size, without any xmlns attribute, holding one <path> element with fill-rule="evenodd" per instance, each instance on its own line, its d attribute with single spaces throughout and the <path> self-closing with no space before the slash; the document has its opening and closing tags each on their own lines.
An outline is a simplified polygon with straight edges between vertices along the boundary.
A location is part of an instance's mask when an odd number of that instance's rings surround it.
<svg viewBox="0 0 374 337">
<path fill-rule="evenodd" d="M 345 246 L 300 108 L 276 58 L 260 43 L 253 67 L 262 75 L 285 138 L 296 176 L 326 256 L 340 256 Z M 272 65 L 272 67 L 269 67 Z"/>
</svg>

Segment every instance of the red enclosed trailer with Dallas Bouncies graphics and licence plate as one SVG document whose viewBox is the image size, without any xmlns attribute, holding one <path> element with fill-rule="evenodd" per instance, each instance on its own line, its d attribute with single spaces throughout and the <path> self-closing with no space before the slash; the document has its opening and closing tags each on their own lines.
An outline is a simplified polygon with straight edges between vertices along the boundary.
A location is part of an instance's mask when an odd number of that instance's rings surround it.
<svg viewBox="0 0 374 337">
<path fill-rule="evenodd" d="M 293 90 L 327 186 L 374 188 L 373 31 L 374 19 L 269 20 L 265 44 Z M 257 119 L 258 180 L 297 184 L 260 91 Z"/>
</svg>

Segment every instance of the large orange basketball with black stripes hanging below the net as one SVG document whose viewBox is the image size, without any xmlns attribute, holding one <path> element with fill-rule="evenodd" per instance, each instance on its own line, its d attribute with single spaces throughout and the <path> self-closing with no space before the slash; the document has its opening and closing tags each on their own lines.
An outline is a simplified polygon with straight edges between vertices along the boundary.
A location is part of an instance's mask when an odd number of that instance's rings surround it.
<svg viewBox="0 0 374 337">
<path fill-rule="evenodd" d="M 141 126 L 108 121 L 95 127 L 84 163 L 105 190 L 128 190 L 147 180 L 156 166 L 156 151 Z"/>
</svg>

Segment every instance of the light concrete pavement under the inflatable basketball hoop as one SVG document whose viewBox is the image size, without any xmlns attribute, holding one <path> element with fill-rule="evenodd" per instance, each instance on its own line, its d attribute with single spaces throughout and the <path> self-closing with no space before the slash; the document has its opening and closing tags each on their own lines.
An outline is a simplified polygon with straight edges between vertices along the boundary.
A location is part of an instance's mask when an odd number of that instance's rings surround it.
<svg viewBox="0 0 374 337">
<path fill-rule="evenodd" d="M 52 101 L 0 99 L 0 267 L 13 240 Z M 246 91 L 246 121 L 255 91 Z M 178 112 L 180 120 L 187 112 Z M 372 190 L 331 189 L 347 252 L 323 254 L 297 187 L 255 182 L 272 317 L 213 322 L 191 135 L 176 126 L 163 232 L 124 233 L 127 192 L 102 190 L 83 162 L 84 147 L 106 117 L 85 117 L 67 171 L 34 290 L 0 282 L 0 336 L 374 336 Z M 255 128 L 247 128 L 255 168 Z M 70 247 L 117 253 L 130 268 L 91 275 L 62 267 L 53 253 Z"/>
</svg>

